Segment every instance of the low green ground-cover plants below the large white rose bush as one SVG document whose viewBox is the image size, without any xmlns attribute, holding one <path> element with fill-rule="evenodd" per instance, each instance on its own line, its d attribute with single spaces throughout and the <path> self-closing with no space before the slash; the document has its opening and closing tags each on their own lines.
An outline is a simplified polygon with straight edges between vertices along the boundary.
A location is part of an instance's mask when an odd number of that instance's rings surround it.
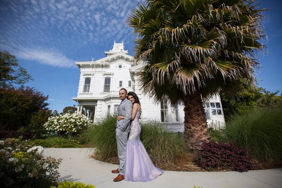
<svg viewBox="0 0 282 188">
<path fill-rule="evenodd" d="M 29 142 L 30 145 L 41 145 L 42 147 L 73 148 L 82 147 L 78 141 L 68 140 L 63 137 L 49 136 L 46 139 L 36 139 Z"/>
</svg>

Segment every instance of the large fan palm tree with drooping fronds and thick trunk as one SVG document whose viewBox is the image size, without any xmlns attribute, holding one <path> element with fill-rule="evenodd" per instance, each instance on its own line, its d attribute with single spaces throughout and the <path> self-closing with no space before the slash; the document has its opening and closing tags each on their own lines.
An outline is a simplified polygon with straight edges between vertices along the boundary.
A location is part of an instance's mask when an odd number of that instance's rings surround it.
<svg viewBox="0 0 282 188">
<path fill-rule="evenodd" d="M 254 85 L 266 36 L 256 0 L 147 0 L 132 11 L 135 59 L 143 92 L 184 105 L 184 135 L 199 148 L 209 138 L 203 101 Z"/>
</svg>

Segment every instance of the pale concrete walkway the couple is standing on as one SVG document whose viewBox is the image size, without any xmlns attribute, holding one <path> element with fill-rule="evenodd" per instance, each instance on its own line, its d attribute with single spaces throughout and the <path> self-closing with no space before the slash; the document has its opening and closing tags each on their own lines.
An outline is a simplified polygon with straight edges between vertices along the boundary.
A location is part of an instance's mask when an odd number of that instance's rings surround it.
<svg viewBox="0 0 282 188">
<path fill-rule="evenodd" d="M 175 172 L 165 171 L 151 182 L 113 182 L 117 174 L 111 170 L 118 165 L 88 158 L 86 148 L 45 148 L 44 156 L 62 158 L 60 179 L 84 182 L 97 188 L 282 188 L 282 168 L 249 172 Z"/>
</svg>

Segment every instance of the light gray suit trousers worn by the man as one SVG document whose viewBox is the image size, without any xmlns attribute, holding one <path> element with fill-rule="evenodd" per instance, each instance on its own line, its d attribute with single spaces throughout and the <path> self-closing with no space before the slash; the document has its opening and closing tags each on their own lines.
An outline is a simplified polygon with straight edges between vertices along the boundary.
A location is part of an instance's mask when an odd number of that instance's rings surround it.
<svg viewBox="0 0 282 188">
<path fill-rule="evenodd" d="M 125 148 L 128 140 L 128 132 L 123 132 L 119 128 L 115 130 L 115 138 L 117 139 L 117 154 L 120 166 L 118 167 L 120 174 L 124 175 L 124 158 L 125 158 Z"/>
</svg>

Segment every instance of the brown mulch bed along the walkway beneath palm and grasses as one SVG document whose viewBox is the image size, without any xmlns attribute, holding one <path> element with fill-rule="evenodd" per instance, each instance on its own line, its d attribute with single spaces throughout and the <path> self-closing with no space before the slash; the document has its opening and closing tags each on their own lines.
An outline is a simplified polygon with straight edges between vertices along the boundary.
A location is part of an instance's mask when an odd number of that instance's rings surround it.
<svg viewBox="0 0 282 188">
<path fill-rule="evenodd" d="M 93 159 L 103 161 L 99 155 L 91 155 Z M 199 167 L 194 162 L 194 155 L 192 153 L 187 153 L 182 155 L 179 159 L 175 160 L 172 164 L 166 164 L 163 166 L 158 166 L 160 169 L 169 170 L 169 171 L 182 171 L 182 172 L 226 172 L 230 170 L 226 169 L 214 169 L 213 171 L 207 171 L 201 167 Z M 110 158 L 104 162 L 108 162 L 111 164 L 119 164 L 118 158 Z M 273 164 L 266 164 L 266 163 L 259 163 L 253 160 L 254 166 L 252 170 L 263 170 L 263 169 L 274 169 L 274 168 L 282 168 L 282 160 L 273 163 Z"/>
</svg>

